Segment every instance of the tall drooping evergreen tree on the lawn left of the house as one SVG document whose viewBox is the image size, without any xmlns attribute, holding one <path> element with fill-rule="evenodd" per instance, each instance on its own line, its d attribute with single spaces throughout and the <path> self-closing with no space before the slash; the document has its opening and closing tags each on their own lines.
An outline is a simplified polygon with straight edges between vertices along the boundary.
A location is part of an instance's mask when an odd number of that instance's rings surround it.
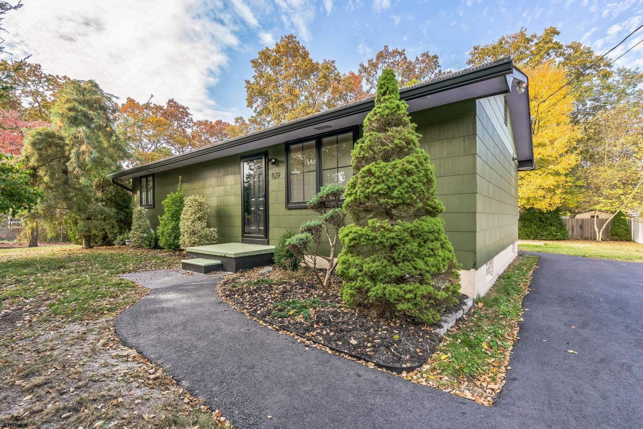
<svg viewBox="0 0 643 429">
<path fill-rule="evenodd" d="M 114 131 L 116 112 L 113 97 L 96 82 L 70 80 L 51 111 L 51 127 L 33 129 L 24 141 L 25 164 L 44 192 L 39 214 L 50 219 L 65 210 L 77 219 L 83 248 L 91 248 L 93 232 L 114 226 L 114 210 L 101 204 L 95 182 L 127 155 Z"/>
</svg>

